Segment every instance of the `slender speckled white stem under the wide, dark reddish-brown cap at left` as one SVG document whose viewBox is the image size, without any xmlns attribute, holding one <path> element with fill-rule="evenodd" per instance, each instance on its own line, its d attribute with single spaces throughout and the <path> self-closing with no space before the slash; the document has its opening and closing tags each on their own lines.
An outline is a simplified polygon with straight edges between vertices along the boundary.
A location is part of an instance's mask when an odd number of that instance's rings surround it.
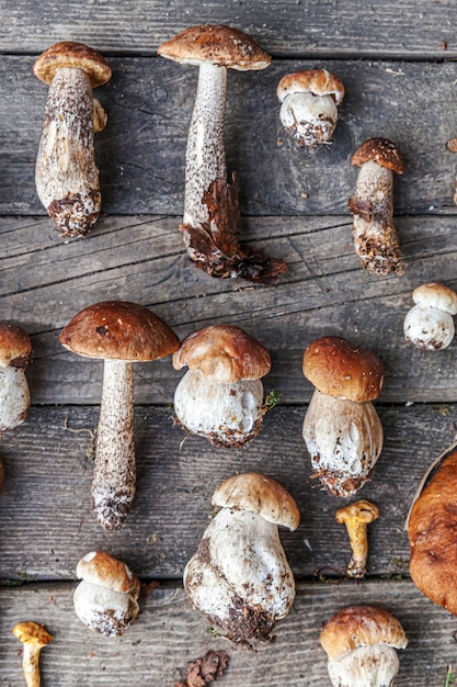
<svg viewBox="0 0 457 687">
<path fill-rule="evenodd" d="M 132 362 L 105 360 L 92 480 L 94 509 L 102 527 L 122 527 L 134 500 L 135 484 Z"/>
</svg>

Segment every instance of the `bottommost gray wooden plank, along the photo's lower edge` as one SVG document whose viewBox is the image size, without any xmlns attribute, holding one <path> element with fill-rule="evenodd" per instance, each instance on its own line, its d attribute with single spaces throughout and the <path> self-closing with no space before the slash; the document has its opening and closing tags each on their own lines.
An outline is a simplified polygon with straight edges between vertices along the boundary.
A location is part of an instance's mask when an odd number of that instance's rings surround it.
<svg viewBox="0 0 457 687">
<path fill-rule="evenodd" d="M 26 585 L 0 589 L 0 684 L 22 684 L 21 645 L 11 634 L 20 620 L 45 623 L 53 642 L 42 651 L 43 685 L 73 687 L 135 685 L 172 687 L 187 661 L 209 649 L 229 654 L 220 687 L 315 687 L 330 685 L 319 643 L 322 622 L 351 604 L 377 604 L 402 623 L 409 645 L 399 652 L 396 687 L 444 687 L 456 658 L 457 621 L 420 595 L 407 581 L 300 584 L 289 615 L 277 624 L 276 641 L 256 651 L 233 646 L 208 632 L 182 589 L 171 585 L 140 599 L 141 612 L 122 638 L 88 630 L 72 608 L 75 585 Z"/>
</svg>

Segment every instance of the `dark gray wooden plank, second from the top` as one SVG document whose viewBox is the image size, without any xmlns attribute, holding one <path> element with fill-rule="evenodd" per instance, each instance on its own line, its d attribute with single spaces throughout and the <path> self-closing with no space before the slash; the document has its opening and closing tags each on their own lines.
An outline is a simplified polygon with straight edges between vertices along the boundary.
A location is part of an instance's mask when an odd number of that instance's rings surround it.
<svg viewBox="0 0 457 687">
<path fill-rule="evenodd" d="M 0 214 L 44 213 L 34 185 L 47 87 L 33 58 L 0 57 Z M 96 95 L 108 114 L 96 135 L 107 214 L 173 214 L 183 207 L 184 157 L 197 69 L 161 58 L 115 57 L 112 81 Z M 287 72 L 325 66 L 346 86 L 334 142 L 310 155 L 283 131 L 276 86 Z M 250 215 L 346 214 L 357 170 L 350 157 L 384 136 L 407 165 L 396 179 L 396 212 L 454 212 L 457 64 L 275 61 L 260 72 L 230 72 L 227 159 Z"/>
</svg>

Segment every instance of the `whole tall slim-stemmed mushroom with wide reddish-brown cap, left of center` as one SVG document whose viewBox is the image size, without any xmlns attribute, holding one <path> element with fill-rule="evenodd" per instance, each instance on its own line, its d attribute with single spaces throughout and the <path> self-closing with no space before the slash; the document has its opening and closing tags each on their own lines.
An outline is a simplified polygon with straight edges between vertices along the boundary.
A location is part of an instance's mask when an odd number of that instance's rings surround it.
<svg viewBox="0 0 457 687">
<path fill-rule="evenodd" d="M 125 301 L 95 303 L 60 334 L 73 353 L 104 360 L 92 497 L 105 529 L 119 529 L 135 495 L 134 382 L 132 363 L 175 351 L 175 334 L 150 309 Z"/>
</svg>

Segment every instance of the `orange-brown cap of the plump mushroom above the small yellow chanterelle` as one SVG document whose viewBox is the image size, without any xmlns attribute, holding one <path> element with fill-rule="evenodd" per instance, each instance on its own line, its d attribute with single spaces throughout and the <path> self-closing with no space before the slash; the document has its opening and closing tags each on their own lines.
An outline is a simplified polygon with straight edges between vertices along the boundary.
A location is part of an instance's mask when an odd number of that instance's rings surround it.
<svg viewBox="0 0 457 687">
<path fill-rule="evenodd" d="M 308 346 L 302 369 L 322 394 L 357 403 L 377 398 L 384 383 L 382 363 L 376 353 L 334 336 Z"/>
</svg>

